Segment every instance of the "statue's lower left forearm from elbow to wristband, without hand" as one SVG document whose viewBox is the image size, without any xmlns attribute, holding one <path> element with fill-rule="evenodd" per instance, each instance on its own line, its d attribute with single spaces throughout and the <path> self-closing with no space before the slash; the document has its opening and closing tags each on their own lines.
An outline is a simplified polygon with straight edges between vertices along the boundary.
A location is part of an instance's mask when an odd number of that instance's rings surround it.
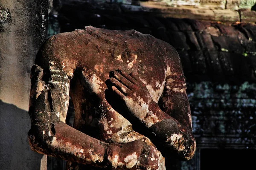
<svg viewBox="0 0 256 170">
<path fill-rule="evenodd" d="M 63 122 L 36 123 L 29 131 L 32 150 L 67 161 L 81 164 L 96 164 L 104 167 L 108 163 L 108 144 L 100 142 Z"/>
</svg>

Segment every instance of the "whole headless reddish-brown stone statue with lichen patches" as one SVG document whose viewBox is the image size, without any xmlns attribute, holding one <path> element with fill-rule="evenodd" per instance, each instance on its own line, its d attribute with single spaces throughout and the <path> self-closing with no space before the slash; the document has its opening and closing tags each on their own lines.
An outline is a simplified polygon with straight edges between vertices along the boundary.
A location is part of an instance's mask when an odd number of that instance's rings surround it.
<svg viewBox="0 0 256 170">
<path fill-rule="evenodd" d="M 31 83 L 30 146 L 69 169 L 165 170 L 165 157 L 195 153 L 179 55 L 151 35 L 92 26 L 56 34 L 39 50 Z"/>
</svg>

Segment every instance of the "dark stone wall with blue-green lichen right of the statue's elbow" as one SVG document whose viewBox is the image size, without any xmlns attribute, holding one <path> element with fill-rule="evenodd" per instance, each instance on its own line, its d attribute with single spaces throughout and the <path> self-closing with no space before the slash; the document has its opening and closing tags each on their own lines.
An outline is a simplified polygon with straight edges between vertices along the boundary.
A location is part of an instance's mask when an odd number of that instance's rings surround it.
<svg viewBox="0 0 256 170">
<path fill-rule="evenodd" d="M 255 83 L 201 82 L 188 86 L 198 145 L 255 149 Z M 203 130 L 203 131 L 202 131 Z M 226 136 L 222 138 L 221 136 Z"/>
</svg>

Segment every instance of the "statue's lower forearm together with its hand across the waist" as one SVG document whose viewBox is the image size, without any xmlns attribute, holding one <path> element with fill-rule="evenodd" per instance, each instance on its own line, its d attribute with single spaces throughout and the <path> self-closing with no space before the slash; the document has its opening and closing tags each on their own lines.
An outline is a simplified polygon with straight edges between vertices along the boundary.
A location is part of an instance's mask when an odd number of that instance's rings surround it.
<svg viewBox="0 0 256 170">
<path fill-rule="evenodd" d="M 47 132 L 47 133 L 46 133 Z M 49 136 L 50 134 L 50 136 Z M 105 143 L 94 139 L 63 122 L 32 125 L 29 143 L 38 153 L 81 164 L 128 170 L 158 170 L 162 161 L 160 152 L 140 140 L 127 144 Z M 161 167 L 160 170 L 164 170 Z"/>
</svg>

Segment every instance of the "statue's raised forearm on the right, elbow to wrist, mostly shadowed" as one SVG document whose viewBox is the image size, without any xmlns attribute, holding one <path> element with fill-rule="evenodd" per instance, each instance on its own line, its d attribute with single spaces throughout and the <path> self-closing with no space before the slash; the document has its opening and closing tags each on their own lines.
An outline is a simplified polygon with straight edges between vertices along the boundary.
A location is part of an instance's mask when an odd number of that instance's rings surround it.
<svg viewBox="0 0 256 170">
<path fill-rule="evenodd" d="M 148 128 L 152 142 L 154 142 L 157 147 L 161 147 L 158 148 L 161 152 L 172 152 L 177 154 L 180 158 L 187 160 L 193 157 L 196 142 L 192 128 L 181 124 L 172 116 L 163 112 L 157 103 L 152 102 L 152 104 L 149 105 L 147 115 L 141 117 L 140 121 Z"/>
</svg>

